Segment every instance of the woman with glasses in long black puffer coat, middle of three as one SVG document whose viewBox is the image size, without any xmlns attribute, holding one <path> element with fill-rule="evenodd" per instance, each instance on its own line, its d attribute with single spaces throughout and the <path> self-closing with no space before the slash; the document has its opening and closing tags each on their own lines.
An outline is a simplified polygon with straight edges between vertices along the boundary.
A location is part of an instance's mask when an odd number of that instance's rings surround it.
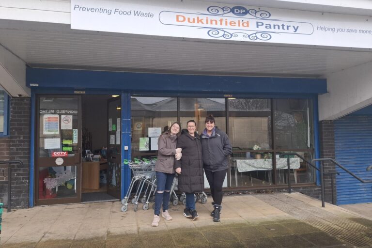
<svg viewBox="0 0 372 248">
<path fill-rule="evenodd" d="M 195 132 L 196 123 L 187 122 L 187 131 L 177 139 L 176 148 L 182 148 L 182 157 L 175 161 L 178 176 L 178 190 L 186 194 L 184 216 L 193 220 L 199 217 L 195 209 L 194 193 L 204 190 L 202 143 Z"/>
</svg>

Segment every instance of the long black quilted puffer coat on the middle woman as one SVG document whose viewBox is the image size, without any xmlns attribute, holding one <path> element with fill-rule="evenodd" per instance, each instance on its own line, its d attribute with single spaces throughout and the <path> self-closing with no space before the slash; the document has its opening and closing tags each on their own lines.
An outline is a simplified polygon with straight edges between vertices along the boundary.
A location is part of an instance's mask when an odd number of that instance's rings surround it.
<svg viewBox="0 0 372 248">
<path fill-rule="evenodd" d="M 204 171 L 202 143 L 195 133 L 192 137 L 185 133 L 178 137 L 177 148 L 182 148 L 182 157 L 175 161 L 175 168 L 181 168 L 178 175 L 178 190 L 185 193 L 196 193 L 204 190 Z"/>
</svg>

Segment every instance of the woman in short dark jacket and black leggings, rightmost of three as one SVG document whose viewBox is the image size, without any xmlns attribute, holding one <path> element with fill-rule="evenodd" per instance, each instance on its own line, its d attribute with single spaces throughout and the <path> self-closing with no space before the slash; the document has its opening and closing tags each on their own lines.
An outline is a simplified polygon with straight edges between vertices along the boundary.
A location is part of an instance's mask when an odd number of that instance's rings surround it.
<svg viewBox="0 0 372 248">
<path fill-rule="evenodd" d="M 222 185 L 229 168 L 227 157 L 232 153 L 233 148 L 227 134 L 215 127 L 213 115 L 205 118 L 205 129 L 201 138 L 204 172 L 213 198 L 214 210 L 211 216 L 213 221 L 218 222 L 222 203 Z"/>
</svg>

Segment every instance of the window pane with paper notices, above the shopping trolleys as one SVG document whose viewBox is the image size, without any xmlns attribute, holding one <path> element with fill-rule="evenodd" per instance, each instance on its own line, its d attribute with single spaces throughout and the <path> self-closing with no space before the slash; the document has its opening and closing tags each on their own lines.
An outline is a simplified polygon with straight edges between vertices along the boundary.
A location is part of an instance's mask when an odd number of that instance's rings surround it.
<svg viewBox="0 0 372 248">
<path fill-rule="evenodd" d="M 177 98 L 131 97 L 132 159 L 157 155 L 157 137 L 149 137 L 149 127 L 168 130 L 177 122 Z"/>
</svg>

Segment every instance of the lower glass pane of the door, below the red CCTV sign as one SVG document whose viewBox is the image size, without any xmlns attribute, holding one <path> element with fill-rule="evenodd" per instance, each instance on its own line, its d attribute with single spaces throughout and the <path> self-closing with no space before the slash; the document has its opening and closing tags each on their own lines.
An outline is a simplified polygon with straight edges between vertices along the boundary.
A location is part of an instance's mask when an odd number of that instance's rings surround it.
<svg viewBox="0 0 372 248">
<path fill-rule="evenodd" d="M 39 199 L 77 197 L 76 166 L 39 168 Z"/>
</svg>

